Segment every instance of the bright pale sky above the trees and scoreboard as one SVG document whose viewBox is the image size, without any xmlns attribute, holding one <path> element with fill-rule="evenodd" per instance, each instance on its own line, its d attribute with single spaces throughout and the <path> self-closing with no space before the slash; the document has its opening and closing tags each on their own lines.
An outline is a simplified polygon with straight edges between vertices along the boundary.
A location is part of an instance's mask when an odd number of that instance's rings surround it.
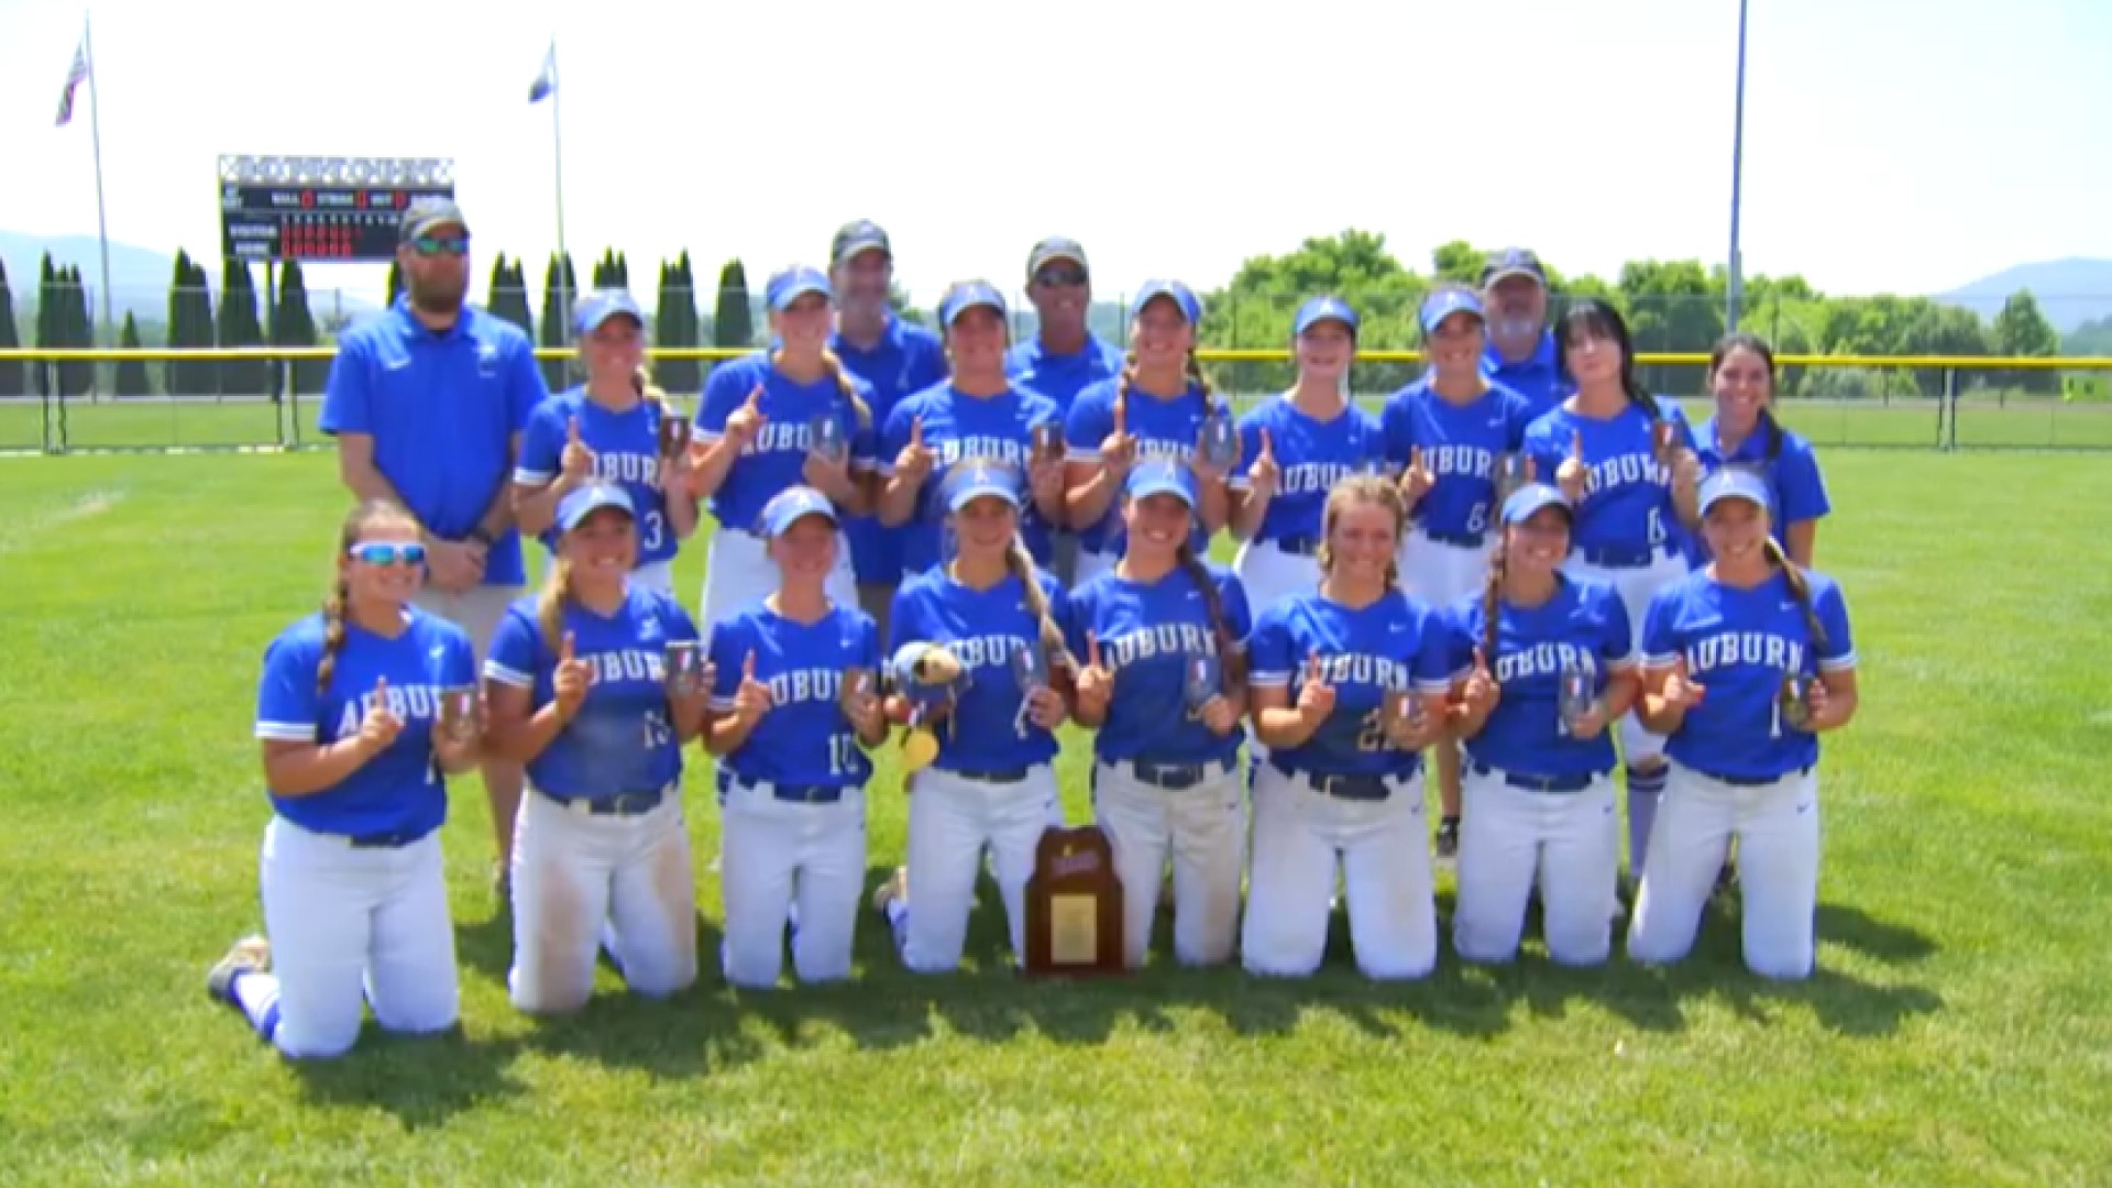
<svg viewBox="0 0 2112 1188">
<path fill-rule="evenodd" d="M 857 216 L 919 298 L 1016 285 L 1048 233 L 1086 243 L 1100 292 L 1219 285 L 1345 226 L 1421 266 L 1447 239 L 1571 273 L 1728 245 L 1736 0 L 479 8 L 97 4 L 110 237 L 218 256 L 222 152 L 431 154 L 456 159 L 486 260 L 541 260 L 551 110 L 526 93 L 555 32 L 566 239 L 646 281 L 680 247 L 699 271 L 819 262 Z M 4 228 L 95 230 L 84 93 L 53 129 L 80 21 L 0 0 Z M 1747 271 L 1941 292 L 2112 256 L 2108 125 L 2104 0 L 1753 0 Z"/>
</svg>

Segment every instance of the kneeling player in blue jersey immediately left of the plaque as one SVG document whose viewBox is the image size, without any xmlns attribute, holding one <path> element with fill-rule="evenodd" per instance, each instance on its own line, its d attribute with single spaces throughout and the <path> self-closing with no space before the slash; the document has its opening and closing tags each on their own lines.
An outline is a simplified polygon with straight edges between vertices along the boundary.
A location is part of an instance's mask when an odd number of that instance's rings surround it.
<svg viewBox="0 0 2112 1188">
<path fill-rule="evenodd" d="M 938 753 L 908 780 L 908 867 L 874 892 L 902 962 L 917 972 L 961 964 L 984 850 L 1005 898 L 1012 951 L 1026 960 L 1026 877 L 1058 812 L 1054 731 L 1071 714 L 1077 664 L 1064 647 L 1071 600 L 1020 541 L 1024 486 L 1018 467 L 1003 461 L 959 461 L 942 495 L 959 550 L 895 596 L 889 666 L 900 693 L 889 698 L 889 717 L 910 719 L 921 672 L 963 674 L 950 702 L 921 719 Z M 1016 653 L 1029 649 L 1039 649 L 1043 676 L 1022 687 Z M 914 911 L 908 871 L 917 873 Z"/>
</svg>

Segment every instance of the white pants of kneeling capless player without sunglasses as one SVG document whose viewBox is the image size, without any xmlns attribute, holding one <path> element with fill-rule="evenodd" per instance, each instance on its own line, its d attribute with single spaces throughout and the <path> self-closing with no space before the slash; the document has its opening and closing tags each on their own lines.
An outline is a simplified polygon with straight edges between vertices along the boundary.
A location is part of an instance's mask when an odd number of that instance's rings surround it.
<svg viewBox="0 0 2112 1188">
<path fill-rule="evenodd" d="M 1314 791 L 1263 763 L 1255 774 L 1255 860 L 1240 941 L 1248 972 L 1303 977 L 1326 955 L 1328 901 L 1341 860 L 1356 968 L 1373 979 L 1428 974 L 1438 960 L 1423 780 L 1388 780 L 1383 801 Z"/>
</svg>

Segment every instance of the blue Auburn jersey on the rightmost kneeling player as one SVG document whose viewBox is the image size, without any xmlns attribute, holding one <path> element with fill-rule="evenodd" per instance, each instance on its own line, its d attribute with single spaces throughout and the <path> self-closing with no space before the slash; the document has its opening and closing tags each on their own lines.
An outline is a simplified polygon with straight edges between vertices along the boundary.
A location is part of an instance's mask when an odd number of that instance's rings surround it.
<svg viewBox="0 0 2112 1188">
<path fill-rule="evenodd" d="M 1783 676 L 1854 668 L 1848 602 L 1823 573 L 1804 571 L 1825 643 L 1780 573 L 1753 590 L 1723 586 L 1696 571 L 1658 590 L 1643 615 L 1643 664 L 1668 668 L 1685 657 L 1702 685 L 1664 753 L 1709 776 L 1766 780 L 1818 761 L 1818 736 L 1783 725 L 1776 710 Z"/>
</svg>

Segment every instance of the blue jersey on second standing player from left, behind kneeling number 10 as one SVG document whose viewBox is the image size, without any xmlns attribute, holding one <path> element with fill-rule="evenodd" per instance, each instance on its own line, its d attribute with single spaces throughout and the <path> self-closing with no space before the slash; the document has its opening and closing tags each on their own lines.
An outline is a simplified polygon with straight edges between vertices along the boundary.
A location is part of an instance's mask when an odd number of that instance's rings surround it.
<svg viewBox="0 0 2112 1188">
<path fill-rule="evenodd" d="M 853 469 L 872 469 L 876 461 L 876 425 L 857 423 L 857 410 L 834 376 L 807 385 L 792 383 L 765 353 L 729 359 L 712 372 L 703 385 L 703 408 L 697 412 L 697 440 L 705 446 L 718 442 L 727 433 L 727 419 L 748 404 L 748 393 L 756 385 L 762 385 L 762 397 L 756 402 L 762 410 L 762 431 L 741 448 L 741 457 L 733 459 L 727 480 L 712 495 L 712 516 L 720 526 L 750 535 L 762 518 L 765 503 L 784 488 L 807 482 L 807 448 L 817 416 L 830 414 L 843 425 Z M 860 378 L 851 378 L 851 385 L 870 408 L 872 387 Z"/>
</svg>

